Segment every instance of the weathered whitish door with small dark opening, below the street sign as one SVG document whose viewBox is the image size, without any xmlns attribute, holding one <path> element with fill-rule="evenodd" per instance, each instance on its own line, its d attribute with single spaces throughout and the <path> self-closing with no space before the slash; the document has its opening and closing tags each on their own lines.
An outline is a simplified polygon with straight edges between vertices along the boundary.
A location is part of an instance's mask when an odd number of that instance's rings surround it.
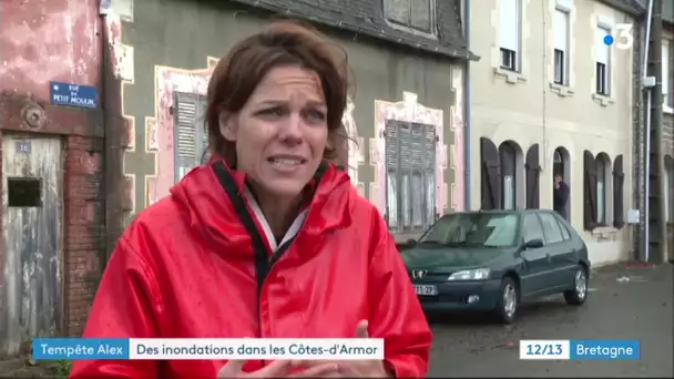
<svg viewBox="0 0 674 379">
<path fill-rule="evenodd" d="M 0 356 L 60 330 L 62 158 L 58 137 L 2 135 Z"/>
</svg>

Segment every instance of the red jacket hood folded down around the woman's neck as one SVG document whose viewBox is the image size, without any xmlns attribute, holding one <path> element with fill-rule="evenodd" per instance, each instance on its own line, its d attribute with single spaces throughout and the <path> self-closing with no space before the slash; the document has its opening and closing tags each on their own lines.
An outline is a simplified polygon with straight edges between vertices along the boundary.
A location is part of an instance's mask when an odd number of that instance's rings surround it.
<svg viewBox="0 0 674 379">
<path fill-rule="evenodd" d="M 207 240 L 226 245 L 248 244 L 251 237 L 241 218 L 241 213 L 251 212 L 244 195 L 245 183 L 245 174 L 229 168 L 222 158 L 212 158 L 173 186 L 171 196 L 184 211 L 183 217 L 190 226 L 204 233 Z M 323 164 L 306 191 L 310 194 L 310 202 L 303 233 L 318 235 L 351 223 L 347 211 L 356 192 L 348 174 L 331 164 Z M 237 203 L 245 204 L 247 209 L 237 207 Z"/>
</svg>

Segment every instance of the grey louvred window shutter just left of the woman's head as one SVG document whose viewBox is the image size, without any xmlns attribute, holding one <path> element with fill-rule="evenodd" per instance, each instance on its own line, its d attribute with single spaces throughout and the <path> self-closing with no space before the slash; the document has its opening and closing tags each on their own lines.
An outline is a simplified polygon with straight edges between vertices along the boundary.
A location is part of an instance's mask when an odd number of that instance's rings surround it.
<svg viewBox="0 0 674 379">
<path fill-rule="evenodd" d="M 208 133 L 204 127 L 206 96 L 176 92 L 173 103 L 175 182 L 207 160 Z"/>
</svg>

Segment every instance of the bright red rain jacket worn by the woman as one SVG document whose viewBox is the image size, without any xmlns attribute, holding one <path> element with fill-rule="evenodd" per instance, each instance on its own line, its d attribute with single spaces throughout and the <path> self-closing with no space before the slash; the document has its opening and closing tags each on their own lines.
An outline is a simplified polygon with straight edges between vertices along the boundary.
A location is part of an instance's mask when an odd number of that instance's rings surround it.
<svg viewBox="0 0 674 379">
<path fill-rule="evenodd" d="M 272 254 L 244 176 L 193 170 L 120 238 L 83 337 L 351 338 L 367 319 L 396 377 L 425 377 L 431 332 L 385 221 L 334 166 L 312 186 L 303 228 Z M 224 363 L 78 360 L 70 378 L 215 378 Z"/>
</svg>

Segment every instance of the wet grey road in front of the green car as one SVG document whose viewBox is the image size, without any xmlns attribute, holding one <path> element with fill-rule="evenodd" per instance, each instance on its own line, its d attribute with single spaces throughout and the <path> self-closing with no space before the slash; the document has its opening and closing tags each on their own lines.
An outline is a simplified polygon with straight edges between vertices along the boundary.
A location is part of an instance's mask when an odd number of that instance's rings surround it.
<svg viewBox="0 0 674 379">
<path fill-rule="evenodd" d="M 511 326 L 476 317 L 430 316 L 429 377 L 674 377 L 672 265 L 612 266 L 593 273 L 588 301 L 562 296 L 520 308 Z M 630 281 L 619 283 L 626 276 Z M 520 339 L 637 339 L 641 360 L 519 360 Z"/>
</svg>

